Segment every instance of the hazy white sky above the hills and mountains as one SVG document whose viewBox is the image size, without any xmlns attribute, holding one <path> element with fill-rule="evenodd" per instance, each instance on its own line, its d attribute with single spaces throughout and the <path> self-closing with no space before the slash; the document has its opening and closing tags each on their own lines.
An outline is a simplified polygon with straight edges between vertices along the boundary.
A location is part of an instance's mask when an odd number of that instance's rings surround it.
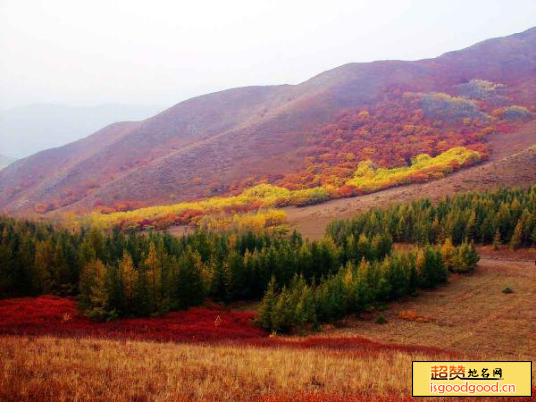
<svg viewBox="0 0 536 402">
<path fill-rule="evenodd" d="M 0 108 L 170 106 L 534 25 L 536 0 L 0 0 Z"/>
</svg>

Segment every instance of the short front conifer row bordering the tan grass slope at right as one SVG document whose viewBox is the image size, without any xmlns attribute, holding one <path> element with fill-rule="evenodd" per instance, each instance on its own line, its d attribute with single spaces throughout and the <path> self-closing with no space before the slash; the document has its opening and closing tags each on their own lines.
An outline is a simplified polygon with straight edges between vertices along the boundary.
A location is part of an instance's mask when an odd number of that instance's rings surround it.
<svg viewBox="0 0 536 402">
<path fill-rule="evenodd" d="M 280 291 L 272 280 L 259 308 L 259 323 L 270 331 L 314 329 L 322 322 L 359 313 L 369 306 L 413 295 L 447 282 L 448 271 L 470 272 L 479 260 L 472 244 L 426 246 L 393 252 L 383 261 L 348 262 L 317 285 L 295 276 Z"/>
</svg>

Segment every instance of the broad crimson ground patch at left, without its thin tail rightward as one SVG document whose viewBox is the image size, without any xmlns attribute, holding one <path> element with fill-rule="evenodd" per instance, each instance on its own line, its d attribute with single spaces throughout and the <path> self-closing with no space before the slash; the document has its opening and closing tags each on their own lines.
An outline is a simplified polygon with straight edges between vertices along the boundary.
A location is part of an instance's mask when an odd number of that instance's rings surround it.
<svg viewBox="0 0 536 402">
<path fill-rule="evenodd" d="M 218 319 L 219 317 L 219 319 Z M 175 342 L 244 340 L 266 336 L 255 313 L 199 307 L 155 318 L 98 323 L 82 316 L 72 299 L 55 296 L 0 300 L 0 334 L 97 336 Z"/>
</svg>

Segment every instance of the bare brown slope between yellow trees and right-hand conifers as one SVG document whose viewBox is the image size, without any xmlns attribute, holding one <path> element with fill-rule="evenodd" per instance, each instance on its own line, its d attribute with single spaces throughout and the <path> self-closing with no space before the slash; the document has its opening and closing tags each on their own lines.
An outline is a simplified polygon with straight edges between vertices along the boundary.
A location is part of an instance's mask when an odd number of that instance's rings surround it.
<svg viewBox="0 0 536 402">
<path fill-rule="evenodd" d="M 515 133 L 496 134 L 490 143 L 494 150 L 493 156 L 482 165 L 433 182 L 395 187 L 304 208 L 286 208 L 290 224 L 306 237 L 320 239 L 333 219 L 349 218 L 370 208 L 386 207 L 422 197 L 437 201 L 458 192 L 536 184 L 536 122 L 527 124 Z"/>
</svg>

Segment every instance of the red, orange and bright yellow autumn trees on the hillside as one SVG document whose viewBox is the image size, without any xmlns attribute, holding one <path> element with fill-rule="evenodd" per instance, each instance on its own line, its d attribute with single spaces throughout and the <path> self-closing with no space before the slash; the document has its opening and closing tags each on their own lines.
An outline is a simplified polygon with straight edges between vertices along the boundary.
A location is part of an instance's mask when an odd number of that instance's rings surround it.
<svg viewBox="0 0 536 402">
<path fill-rule="evenodd" d="M 97 201 L 92 213 L 53 216 L 75 226 L 135 230 L 274 227 L 286 221 L 282 207 L 423 183 L 486 161 L 492 152 L 490 135 L 508 136 L 534 116 L 533 105 L 512 104 L 504 84 L 475 79 L 452 92 L 390 88 L 374 107 L 341 112 L 332 123 L 303 133 L 305 144 L 297 153 L 305 161 L 303 169 L 249 177 L 228 186 L 226 196 L 208 194 L 198 201 L 144 208 L 135 200 Z M 193 183 L 206 180 L 196 177 Z M 69 196 L 62 199 L 69 202 Z M 35 210 L 45 213 L 61 206 L 38 205 Z"/>
</svg>

